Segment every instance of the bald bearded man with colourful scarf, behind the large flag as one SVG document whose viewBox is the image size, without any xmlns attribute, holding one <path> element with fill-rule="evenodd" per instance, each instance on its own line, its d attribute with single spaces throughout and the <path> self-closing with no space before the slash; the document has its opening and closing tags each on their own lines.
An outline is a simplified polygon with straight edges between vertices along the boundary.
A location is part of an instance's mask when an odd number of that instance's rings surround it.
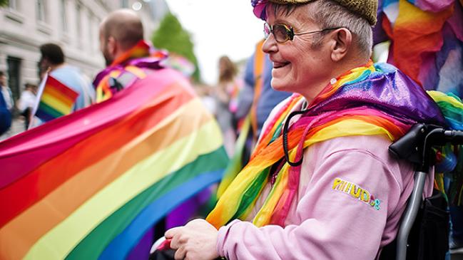
<svg viewBox="0 0 463 260">
<path fill-rule="evenodd" d="M 100 51 L 107 67 L 93 81 L 97 103 L 144 78 L 150 69 L 161 68 L 160 62 L 167 57 L 143 40 L 141 19 L 130 9 L 113 11 L 101 22 Z"/>
</svg>

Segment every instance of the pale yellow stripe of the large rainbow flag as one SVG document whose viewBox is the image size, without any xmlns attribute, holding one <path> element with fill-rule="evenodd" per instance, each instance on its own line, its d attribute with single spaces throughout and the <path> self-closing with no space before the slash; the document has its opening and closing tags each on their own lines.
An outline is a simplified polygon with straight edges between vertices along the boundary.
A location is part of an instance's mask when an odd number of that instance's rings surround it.
<svg viewBox="0 0 463 260">
<path fill-rule="evenodd" d="M 137 140 L 133 140 L 128 146 L 136 143 Z M 78 242 L 103 221 L 104 218 L 101 216 L 108 217 L 113 214 L 151 184 L 193 162 L 199 155 L 218 149 L 222 143 L 217 123 L 210 120 L 198 131 L 139 162 L 113 183 L 101 189 L 76 212 L 42 236 L 24 259 L 64 259 Z"/>
</svg>

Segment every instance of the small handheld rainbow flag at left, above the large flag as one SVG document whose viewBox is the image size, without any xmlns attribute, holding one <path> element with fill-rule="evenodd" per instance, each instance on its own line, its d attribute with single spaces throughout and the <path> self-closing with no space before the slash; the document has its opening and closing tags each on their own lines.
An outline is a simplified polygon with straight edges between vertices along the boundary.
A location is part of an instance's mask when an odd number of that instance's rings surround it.
<svg viewBox="0 0 463 260">
<path fill-rule="evenodd" d="M 49 121 L 71 113 L 78 93 L 48 75 L 39 90 L 39 104 L 33 115 Z"/>
</svg>

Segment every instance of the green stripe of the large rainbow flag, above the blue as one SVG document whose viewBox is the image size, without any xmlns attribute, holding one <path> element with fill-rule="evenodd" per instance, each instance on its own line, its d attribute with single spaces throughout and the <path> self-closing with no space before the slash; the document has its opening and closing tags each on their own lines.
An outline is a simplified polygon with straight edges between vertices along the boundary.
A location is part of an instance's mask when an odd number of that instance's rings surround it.
<svg viewBox="0 0 463 260">
<path fill-rule="evenodd" d="M 183 184 L 183 182 L 203 172 L 224 169 L 227 162 L 228 157 L 223 147 L 206 155 L 200 155 L 195 161 L 190 162 L 180 170 L 159 180 L 111 214 L 111 216 L 101 222 L 98 227 L 93 229 L 93 231 L 90 232 L 68 256 L 66 256 L 66 259 L 98 259 L 98 256 L 100 256 L 106 246 L 108 246 L 118 234 L 123 232 L 145 207 L 158 199 L 158 197 L 161 197 L 169 190 L 178 187 Z"/>
</svg>

